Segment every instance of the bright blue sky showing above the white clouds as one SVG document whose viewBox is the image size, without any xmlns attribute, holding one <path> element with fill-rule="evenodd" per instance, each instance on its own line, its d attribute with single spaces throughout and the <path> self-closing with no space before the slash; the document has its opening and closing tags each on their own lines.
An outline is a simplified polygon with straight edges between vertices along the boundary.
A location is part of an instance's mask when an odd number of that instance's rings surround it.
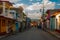
<svg viewBox="0 0 60 40">
<path fill-rule="evenodd" d="M 51 2 L 55 2 L 55 8 L 60 8 L 60 0 L 49 0 Z M 23 4 L 26 4 L 26 5 L 32 5 L 32 3 L 36 3 L 36 2 L 39 2 L 41 3 L 42 0 L 17 0 L 17 2 L 15 3 L 23 3 Z"/>
</svg>

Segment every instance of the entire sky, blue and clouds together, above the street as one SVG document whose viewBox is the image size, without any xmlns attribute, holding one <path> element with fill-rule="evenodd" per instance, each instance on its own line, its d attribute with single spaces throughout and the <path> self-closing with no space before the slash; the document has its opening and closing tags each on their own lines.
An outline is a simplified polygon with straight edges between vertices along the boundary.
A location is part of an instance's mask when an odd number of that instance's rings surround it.
<svg viewBox="0 0 60 40">
<path fill-rule="evenodd" d="M 45 11 L 48 9 L 60 9 L 60 0 L 9 0 L 14 7 L 22 6 L 24 12 L 31 19 L 40 19 L 43 3 Z"/>
</svg>

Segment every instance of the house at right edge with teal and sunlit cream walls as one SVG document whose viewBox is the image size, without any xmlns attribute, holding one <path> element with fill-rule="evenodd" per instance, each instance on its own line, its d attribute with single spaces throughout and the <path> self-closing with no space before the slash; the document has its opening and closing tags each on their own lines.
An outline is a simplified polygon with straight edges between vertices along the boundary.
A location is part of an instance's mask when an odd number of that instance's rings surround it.
<svg viewBox="0 0 60 40">
<path fill-rule="evenodd" d="M 60 32 L 60 9 L 48 10 L 47 13 L 50 14 L 50 29 Z"/>
</svg>

